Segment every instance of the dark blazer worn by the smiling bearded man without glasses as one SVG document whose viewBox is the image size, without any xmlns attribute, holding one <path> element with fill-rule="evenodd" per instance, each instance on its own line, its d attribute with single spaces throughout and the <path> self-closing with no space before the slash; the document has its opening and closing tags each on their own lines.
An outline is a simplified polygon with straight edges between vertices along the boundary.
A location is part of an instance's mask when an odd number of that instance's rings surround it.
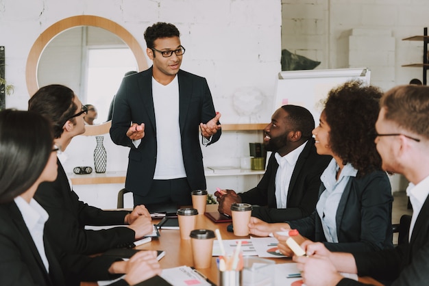
<svg viewBox="0 0 429 286">
<path fill-rule="evenodd" d="M 278 169 L 274 153 L 268 161 L 267 170 L 256 187 L 240 193 L 243 203 L 260 205 L 254 207 L 252 216 L 265 222 L 284 222 L 310 216 L 315 210 L 317 194 L 319 194 L 320 175 L 328 166 L 332 157 L 318 155 L 315 140 L 310 138 L 299 155 L 293 169 L 287 197 L 287 208 L 277 209 L 275 200 L 275 173 Z"/>
</svg>

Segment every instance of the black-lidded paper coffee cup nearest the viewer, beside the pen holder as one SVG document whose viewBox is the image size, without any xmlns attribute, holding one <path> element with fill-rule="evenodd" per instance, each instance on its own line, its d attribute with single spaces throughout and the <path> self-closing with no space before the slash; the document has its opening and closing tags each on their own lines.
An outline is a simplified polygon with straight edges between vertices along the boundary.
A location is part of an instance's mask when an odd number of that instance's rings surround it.
<svg viewBox="0 0 429 286">
<path fill-rule="evenodd" d="M 215 232 L 210 229 L 191 231 L 192 256 L 195 268 L 210 268 L 212 265 L 212 248 Z"/>
</svg>

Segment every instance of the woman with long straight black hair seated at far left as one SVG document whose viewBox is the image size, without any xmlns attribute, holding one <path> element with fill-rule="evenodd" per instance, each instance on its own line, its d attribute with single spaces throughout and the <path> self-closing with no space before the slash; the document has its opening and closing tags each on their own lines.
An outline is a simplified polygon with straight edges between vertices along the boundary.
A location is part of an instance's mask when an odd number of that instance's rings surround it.
<svg viewBox="0 0 429 286">
<path fill-rule="evenodd" d="M 56 256 L 44 231 L 49 215 L 33 198 L 40 183 L 57 177 L 57 149 L 52 146 L 47 119 L 34 112 L 0 112 L 0 284 L 66 285 L 60 265 L 75 261 L 85 261 L 88 272 L 93 265 L 107 265 L 106 278 L 127 272 L 125 284 L 160 273 L 156 252 L 138 252 L 130 261 Z"/>
</svg>

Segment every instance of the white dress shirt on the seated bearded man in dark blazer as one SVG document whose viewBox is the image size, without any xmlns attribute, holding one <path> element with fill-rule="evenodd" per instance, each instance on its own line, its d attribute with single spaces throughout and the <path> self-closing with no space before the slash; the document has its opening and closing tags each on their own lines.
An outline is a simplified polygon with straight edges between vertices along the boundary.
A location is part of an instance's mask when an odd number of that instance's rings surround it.
<svg viewBox="0 0 429 286">
<path fill-rule="evenodd" d="M 308 141 L 304 142 L 301 146 L 283 157 L 279 153 L 274 154 L 278 163 L 278 169 L 275 173 L 275 201 L 278 209 L 286 209 L 287 207 L 289 184 L 291 183 L 293 169 L 295 169 L 298 157 L 307 143 Z"/>
</svg>

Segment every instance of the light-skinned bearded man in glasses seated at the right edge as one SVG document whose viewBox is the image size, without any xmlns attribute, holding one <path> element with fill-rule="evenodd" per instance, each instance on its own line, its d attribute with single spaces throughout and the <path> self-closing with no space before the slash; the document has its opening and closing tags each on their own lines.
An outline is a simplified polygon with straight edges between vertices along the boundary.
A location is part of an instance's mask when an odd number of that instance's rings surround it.
<svg viewBox="0 0 429 286">
<path fill-rule="evenodd" d="M 371 276 L 388 285 L 427 285 L 429 281 L 429 88 L 397 86 L 384 94 L 376 122 L 382 168 L 404 174 L 413 205 L 408 239 L 392 250 L 329 252 L 323 244 L 304 242 L 306 257 L 298 262 L 304 283 L 363 285 L 339 272 Z"/>
</svg>

